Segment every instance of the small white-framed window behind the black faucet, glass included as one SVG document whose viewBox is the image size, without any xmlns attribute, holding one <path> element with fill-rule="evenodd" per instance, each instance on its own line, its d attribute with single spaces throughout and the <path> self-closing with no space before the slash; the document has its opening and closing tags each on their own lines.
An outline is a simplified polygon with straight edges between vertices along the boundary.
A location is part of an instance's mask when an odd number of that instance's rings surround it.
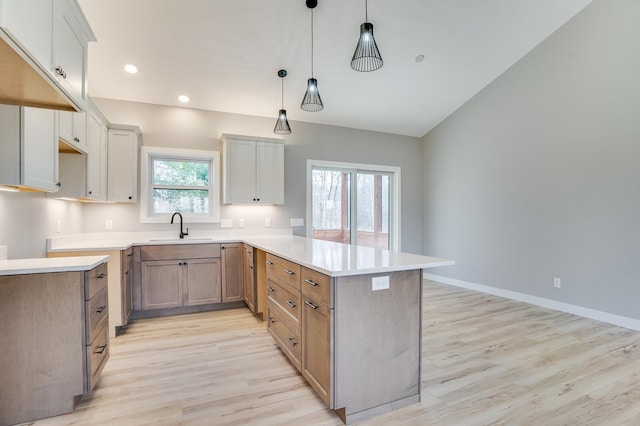
<svg viewBox="0 0 640 426">
<path fill-rule="evenodd" d="M 214 151 L 142 148 L 140 221 L 219 222 L 219 158 Z"/>
</svg>

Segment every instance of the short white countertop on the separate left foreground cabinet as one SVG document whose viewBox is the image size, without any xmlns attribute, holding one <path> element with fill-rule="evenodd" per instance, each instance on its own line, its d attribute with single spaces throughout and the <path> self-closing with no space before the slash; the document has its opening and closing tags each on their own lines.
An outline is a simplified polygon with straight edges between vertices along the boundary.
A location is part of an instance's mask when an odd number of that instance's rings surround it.
<svg viewBox="0 0 640 426">
<path fill-rule="evenodd" d="M 0 275 L 89 271 L 108 259 L 109 256 L 74 256 L 0 260 Z"/>
</svg>

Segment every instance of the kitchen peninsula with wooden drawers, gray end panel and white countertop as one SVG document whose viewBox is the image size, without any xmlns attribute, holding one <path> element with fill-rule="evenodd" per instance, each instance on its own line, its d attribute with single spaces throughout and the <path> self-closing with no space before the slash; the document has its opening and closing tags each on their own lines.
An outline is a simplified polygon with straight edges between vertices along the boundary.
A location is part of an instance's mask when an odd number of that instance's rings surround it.
<svg viewBox="0 0 640 426">
<path fill-rule="evenodd" d="M 292 235 L 137 237 L 131 245 L 234 241 L 263 252 L 267 328 L 345 423 L 420 400 L 422 270 L 452 261 Z"/>
</svg>

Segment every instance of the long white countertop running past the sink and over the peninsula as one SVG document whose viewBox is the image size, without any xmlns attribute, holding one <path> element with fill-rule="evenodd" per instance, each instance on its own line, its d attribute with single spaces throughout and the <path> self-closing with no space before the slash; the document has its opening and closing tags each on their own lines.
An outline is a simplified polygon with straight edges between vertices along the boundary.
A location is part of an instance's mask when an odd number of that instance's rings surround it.
<svg viewBox="0 0 640 426">
<path fill-rule="evenodd" d="M 78 234 L 48 240 L 49 252 L 124 250 L 132 245 L 203 244 L 243 242 L 276 256 L 333 277 L 435 268 L 455 262 L 436 257 L 353 246 L 312 238 L 297 237 L 273 230 L 259 235 L 250 230 L 229 230 L 178 239 L 164 233 Z"/>
</svg>

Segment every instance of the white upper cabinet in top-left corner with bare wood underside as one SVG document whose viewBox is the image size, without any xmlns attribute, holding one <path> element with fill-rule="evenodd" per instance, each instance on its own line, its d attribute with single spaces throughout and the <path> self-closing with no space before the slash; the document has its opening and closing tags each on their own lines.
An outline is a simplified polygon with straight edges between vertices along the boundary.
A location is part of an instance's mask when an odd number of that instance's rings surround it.
<svg viewBox="0 0 640 426">
<path fill-rule="evenodd" d="M 86 110 L 87 45 L 77 0 L 0 0 L 0 88 L 6 102 Z"/>
</svg>

